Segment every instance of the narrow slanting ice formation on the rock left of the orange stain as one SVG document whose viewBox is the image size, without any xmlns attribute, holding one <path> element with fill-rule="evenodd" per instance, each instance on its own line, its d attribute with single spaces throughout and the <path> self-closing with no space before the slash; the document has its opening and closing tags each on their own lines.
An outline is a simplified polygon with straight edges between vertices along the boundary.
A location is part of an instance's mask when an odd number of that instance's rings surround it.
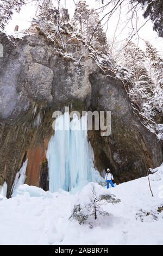
<svg viewBox="0 0 163 256">
<path fill-rule="evenodd" d="M 28 159 L 23 163 L 20 170 L 16 173 L 16 177 L 14 180 L 14 183 L 11 188 L 12 197 L 15 196 L 15 190 L 20 186 L 24 184 L 24 181 L 26 180 L 26 168 L 27 168 Z"/>
</svg>

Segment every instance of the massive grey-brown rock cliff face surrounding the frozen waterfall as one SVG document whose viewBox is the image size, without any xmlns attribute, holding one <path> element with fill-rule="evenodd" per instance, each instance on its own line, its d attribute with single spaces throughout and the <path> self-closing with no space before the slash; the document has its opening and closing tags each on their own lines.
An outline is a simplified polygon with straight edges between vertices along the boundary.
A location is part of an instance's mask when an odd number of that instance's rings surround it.
<svg viewBox="0 0 163 256">
<path fill-rule="evenodd" d="M 52 113 L 70 104 L 80 112 L 111 111 L 111 135 L 89 131 L 88 139 L 96 168 L 101 172 L 109 166 L 116 182 L 145 175 L 146 169 L 162 161 L 160 143 L 133 113 L 111 64 L 98 64 L 90 51 L 77 62 L 84 42 L 62 36 L 67 53 L 36 28 L 21 39 L 0 36 L 0 185 L 7 182 L 8 197 L 27 158 L 26 183 L 48 189 L 46 151 L 54 133 Z"/>
</svg>

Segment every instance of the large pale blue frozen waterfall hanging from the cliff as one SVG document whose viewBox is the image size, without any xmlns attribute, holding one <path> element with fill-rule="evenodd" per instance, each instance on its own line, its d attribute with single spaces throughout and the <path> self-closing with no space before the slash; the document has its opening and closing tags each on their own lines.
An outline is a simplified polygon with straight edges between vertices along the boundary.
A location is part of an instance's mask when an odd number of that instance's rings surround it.
<svg viewBox="0 0 163 256">
<path fill-rule="evenodd" d="M 93 167 L 93 150 L 87 142 L 87 114 L 78 118 L 65 112 L 55 120 L 55 134 L 48 144 L 49 191 L 76 192 L 89 181 L 102 181 Z"/>
</svg>

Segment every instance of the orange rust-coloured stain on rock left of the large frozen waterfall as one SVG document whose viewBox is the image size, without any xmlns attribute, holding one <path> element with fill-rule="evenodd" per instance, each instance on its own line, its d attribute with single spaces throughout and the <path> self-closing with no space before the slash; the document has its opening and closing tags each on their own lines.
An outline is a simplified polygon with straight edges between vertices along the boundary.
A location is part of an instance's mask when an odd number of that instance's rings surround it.
<svg viewBox="0 0 163 256">
<path fill-rule="evenodd" d="M 43 162 L 43 159 L 46 158 L 46 152 L 48 147 L 48 139 L 43 141 L 43 147 L 36 147 L 35 141 L 32 143 L 32 147 L 28 149 L 27 158 L 28 158 L 28 165 L 26 169 L 26 184 L 32 186 L 39 185 L 40 179 L 40 168 Z"/>
</svg>

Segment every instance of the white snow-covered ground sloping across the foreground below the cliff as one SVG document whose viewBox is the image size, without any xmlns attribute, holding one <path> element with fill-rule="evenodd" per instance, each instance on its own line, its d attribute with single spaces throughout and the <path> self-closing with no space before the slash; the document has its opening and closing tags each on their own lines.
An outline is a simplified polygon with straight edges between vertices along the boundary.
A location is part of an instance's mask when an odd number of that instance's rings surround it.
<svg viewBox="0 0 163 256">
<path fill-rule="evenodd" d="M 15 197 L 0 197 L 0 245 L 163 245 L 163 164 L 154 172 L 154 197 L 147 177 L 109 190 L 90 182 L 76 194 L 21 185 Z M 93 227 L 69 220 L 74 205 L 90 204 L 93 187 L 97 200 L 114 194 L 121 202 L 97 202 L 109 215 L 90 217 Z"/>
</svg>

